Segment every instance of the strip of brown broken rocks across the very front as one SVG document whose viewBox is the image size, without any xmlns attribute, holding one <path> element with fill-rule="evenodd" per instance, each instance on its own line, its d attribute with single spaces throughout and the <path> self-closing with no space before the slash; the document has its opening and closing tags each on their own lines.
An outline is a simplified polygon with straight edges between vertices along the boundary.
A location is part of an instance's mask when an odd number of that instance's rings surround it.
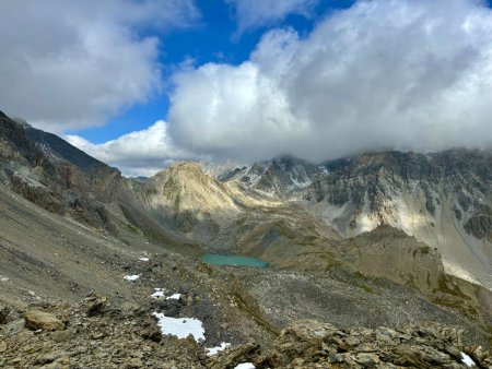
<svg viewBox="0 0 492 369">
<path fill-rule="evenodd" d="M 163 336 L 143 306 L 113 309 L 95 294 L 75 306 L 0 307 L 0 329 L 1 368 L 492 368 L 489 352 L 464 346 L 460 329 L 436 323 L 341 330 L 303 320 L 270 345 L 249 342 L 207 356 L 192 336 Z"/>
</svg>

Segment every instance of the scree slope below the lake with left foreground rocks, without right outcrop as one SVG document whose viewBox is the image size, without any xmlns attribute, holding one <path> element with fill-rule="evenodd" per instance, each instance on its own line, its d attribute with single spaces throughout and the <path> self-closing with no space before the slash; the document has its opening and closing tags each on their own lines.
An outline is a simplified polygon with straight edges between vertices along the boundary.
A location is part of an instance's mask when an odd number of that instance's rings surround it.
<svg viewBox="0 0 492 369">
<path fill-rule="evenodd" d="M 337 266 L 323 275 L 209 266 L 147 241 L 125 224 L 115 223 L 128 245 L 0 189 L 0 365 L 7 368 L 220 368 L 222 356 L 207 357 L 204 348 L 222 342 L 234 353 L 247 353 L 242 345 L 248 343 L 258 348 L 231 365 L 257 362 L 273 353 L 280 330 L 305 318 L 340 328 L 440 321 L 465 329 L 466 345 L 488 344 L 478 319 L 385 279 Z M 151 297 L 156 287 L 163 297 Z M 167 299 L 175 293 L 178 299 Z M 61 325 L 26 325 L 32 310 L 55 314 Z M 206 341 L 162 335 L 153 312 L 200 319 Z"/>
</svg>

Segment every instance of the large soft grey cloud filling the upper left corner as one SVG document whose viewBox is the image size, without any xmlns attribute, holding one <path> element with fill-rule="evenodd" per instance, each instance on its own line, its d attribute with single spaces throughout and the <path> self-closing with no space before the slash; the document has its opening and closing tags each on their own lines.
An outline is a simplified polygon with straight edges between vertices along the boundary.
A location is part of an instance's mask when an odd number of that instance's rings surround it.
<svg viewBox="0 0 492 369">
<path fill-rule="evenodd" d="M 159 40 L 139 28 L 183 27 L 192 0 L 0 1 L 0 102 L 62 132 L 105 122 L 160 88 Z"/>
</svg>

